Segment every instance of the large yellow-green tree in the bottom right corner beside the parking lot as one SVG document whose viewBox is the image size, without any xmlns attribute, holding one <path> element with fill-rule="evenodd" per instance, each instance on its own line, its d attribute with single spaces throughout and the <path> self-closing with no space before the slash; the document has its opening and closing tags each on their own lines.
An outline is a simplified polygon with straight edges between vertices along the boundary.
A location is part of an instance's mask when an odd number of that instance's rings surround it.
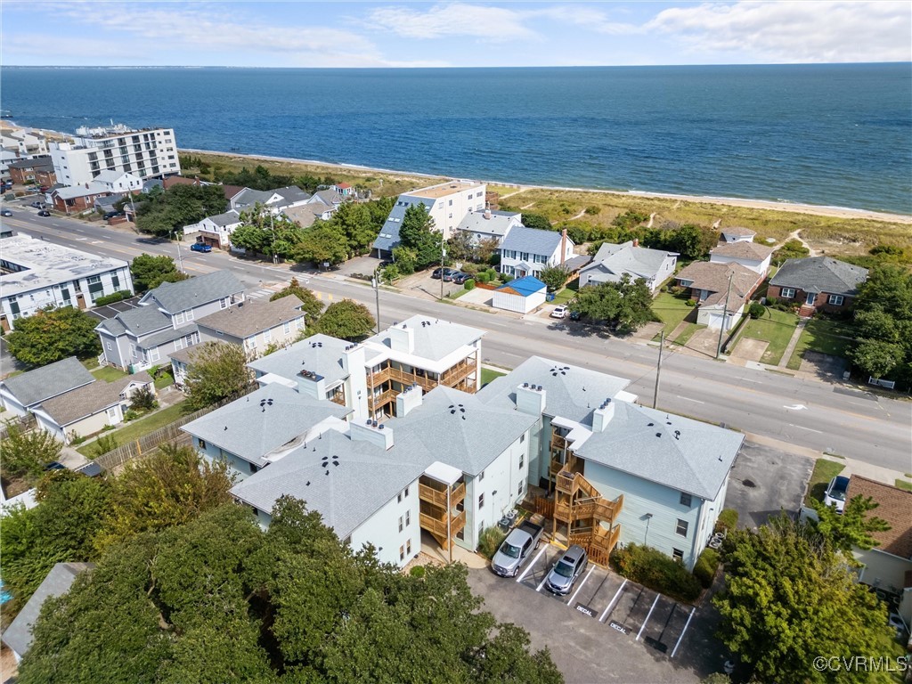
<svg viewBox="0 0 912 684">
<path fill-rule="evenodd" d="M 727 590 L 713 598 L 720 637 L 754 678 L 780 682 L 856 682 L 863 673 L 819 672 L 814 657 L 876 655 L 886 609 L 855 582 L 842 554 L 788 516 L 757 532 L 730 533 Z"/>
</svg>

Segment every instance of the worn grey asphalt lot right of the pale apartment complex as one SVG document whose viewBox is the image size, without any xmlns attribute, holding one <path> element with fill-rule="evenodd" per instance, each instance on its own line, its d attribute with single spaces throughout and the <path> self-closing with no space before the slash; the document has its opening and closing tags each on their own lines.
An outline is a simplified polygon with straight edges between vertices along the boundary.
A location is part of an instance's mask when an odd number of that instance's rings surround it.
<svg viewBox="0 0 912 684">
<path fill-rule="evenodd" d="M 731 469 L 725 507 L 738 511 L 738 526 L 757 528 L 780 511 L 797 514 L 814 459 L 745 441 Z"/>
</svg>

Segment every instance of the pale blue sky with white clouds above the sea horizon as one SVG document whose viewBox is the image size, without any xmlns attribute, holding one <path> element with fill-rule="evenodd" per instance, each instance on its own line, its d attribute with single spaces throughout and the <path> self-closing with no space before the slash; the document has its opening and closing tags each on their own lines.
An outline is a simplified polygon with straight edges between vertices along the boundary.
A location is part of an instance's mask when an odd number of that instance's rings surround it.
<svg viewBox="0 0 912 684">
<path fill-rule="evenodd" d="M 570 67 L 912 61 L 908 0 L 0 4 L 5 66 Z"/>
</svg>

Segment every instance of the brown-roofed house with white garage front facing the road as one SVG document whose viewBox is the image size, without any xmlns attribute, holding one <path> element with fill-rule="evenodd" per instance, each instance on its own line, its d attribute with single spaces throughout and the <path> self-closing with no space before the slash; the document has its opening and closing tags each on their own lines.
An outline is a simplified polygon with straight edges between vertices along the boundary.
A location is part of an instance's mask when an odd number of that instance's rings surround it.
<svg viewBox="0 0 912 684">
<path fill-rule="evenodd" d="M 751 295 L 764 275 L 741 264 L 712 264 L 695 261 L 675 276 L 678 284 L 690 290 L 697 301 L 697 323 L 725 330 L 737 323 L 747 310 Z"/>
</svg>

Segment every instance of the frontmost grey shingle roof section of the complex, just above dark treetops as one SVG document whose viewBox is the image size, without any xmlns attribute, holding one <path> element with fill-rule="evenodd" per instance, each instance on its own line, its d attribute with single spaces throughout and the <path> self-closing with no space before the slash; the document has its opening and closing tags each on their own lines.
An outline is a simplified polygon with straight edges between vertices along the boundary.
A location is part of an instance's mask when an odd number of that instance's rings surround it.
<svg viewBox="0 0 912 684">
<path fill-rule="evenodd" d="M 309 510 L 320 513 L 323 522 L 344 538 L 421 472 L 424 467 L 419 463 L 399 460 L 395 447 L 384 451 L 368 441 L 327 430 L 322 439 L 288 453 L 235 484 L 231 492 L 266 512 L 283 494 L 303 499 Z"/>
</svg>

